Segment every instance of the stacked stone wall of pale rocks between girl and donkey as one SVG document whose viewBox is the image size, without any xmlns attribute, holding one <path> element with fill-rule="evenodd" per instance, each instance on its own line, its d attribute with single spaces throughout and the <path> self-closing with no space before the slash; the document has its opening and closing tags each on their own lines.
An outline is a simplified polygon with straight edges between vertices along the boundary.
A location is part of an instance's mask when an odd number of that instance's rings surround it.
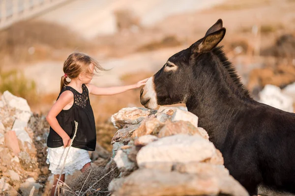
<svg viewBox="0 0 295 196">
<path fill-rule="evenodd" d="M 112 116 L 112 196 L 248 196 L 194 114 L 161 106 L 123 108 Z"/>
</svg>

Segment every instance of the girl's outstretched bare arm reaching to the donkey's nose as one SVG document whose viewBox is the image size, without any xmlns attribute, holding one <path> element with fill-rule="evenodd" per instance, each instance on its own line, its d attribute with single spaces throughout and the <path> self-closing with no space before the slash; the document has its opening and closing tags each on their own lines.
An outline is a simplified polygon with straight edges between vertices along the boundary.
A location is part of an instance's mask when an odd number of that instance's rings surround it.
<svg viewBox="0 0 295 196">
<path fill-rule="evenodd" d="M 146 84 L 148 78 L 137 82 L 136 84 L 126 85 L 126 86 L 114 86 L 114 87 L 97 87 L 93 84 L 87 84 L 89 93 L 92 95 L 115 95 L 123 93 L 131 89 L 137 89 Z"/>
</svg>

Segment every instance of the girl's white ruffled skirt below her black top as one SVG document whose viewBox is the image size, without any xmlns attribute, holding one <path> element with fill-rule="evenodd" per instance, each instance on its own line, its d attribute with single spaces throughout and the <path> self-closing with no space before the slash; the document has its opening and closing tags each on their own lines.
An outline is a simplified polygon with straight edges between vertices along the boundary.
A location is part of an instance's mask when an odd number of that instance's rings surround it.
<svg viewBox="0 0 295 196">
<path fill-rule="evenodd" d="M 49 147 L 47 148 L 47 160 L 46 163 L 49 165 L 49 170 L 53 174 L 60 174 L 66 152 L 69 147 Z M 81 170 L 85 164 L 91 162 L 89 153 L 85 149 L 77 147 L 70 147 L 70 151 L 67 154 L 66 161 L 62 174 L 72 174 L 75 170 Z"/>
</svg>

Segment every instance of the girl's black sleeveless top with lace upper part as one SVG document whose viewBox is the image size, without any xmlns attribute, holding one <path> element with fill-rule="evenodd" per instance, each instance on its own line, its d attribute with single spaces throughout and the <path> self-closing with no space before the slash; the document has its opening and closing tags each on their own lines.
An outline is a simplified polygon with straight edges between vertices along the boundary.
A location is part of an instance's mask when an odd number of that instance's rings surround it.
<svg viewBox="0 0 295 196">
<path fill-rule="evenodd" d="M 88 88 L 83 84 L 82 89 L 82 94 L 70 86 L 65 86 L 62 89 L 59 96 L 64 91 L 71 91 L 74 94 L 74 103 L 70 109 L 61 110 L 57 116 L 57 120 L 61 128 L 71 139 L 75 133 L 75 121 L 78 122 L 78 129 L 72 147 L 94 151 L 96 145 L 95 120 L 89 101 Z M 61 146 L 63 146 L 61 137 L 50 127 L 47 147 Z"/>
</svg>

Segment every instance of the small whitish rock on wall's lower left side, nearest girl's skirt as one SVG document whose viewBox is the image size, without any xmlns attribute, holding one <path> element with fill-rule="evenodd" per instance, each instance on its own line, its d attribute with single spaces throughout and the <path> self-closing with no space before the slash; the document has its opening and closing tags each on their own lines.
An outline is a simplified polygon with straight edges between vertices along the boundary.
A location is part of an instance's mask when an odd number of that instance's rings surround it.
<svg viewBox="0 0 295 196">
<path fill-rule="evenodd" d="M 136 169 L 136 164 L 134 162 L 131 162 L 127 157 L 127 153 L 121 149 L 118 150 L 116 156 L 114 157 L 114 161 L 116 162 L 117 167 L 121 172 L 131 172 Z"/>
</svg>

